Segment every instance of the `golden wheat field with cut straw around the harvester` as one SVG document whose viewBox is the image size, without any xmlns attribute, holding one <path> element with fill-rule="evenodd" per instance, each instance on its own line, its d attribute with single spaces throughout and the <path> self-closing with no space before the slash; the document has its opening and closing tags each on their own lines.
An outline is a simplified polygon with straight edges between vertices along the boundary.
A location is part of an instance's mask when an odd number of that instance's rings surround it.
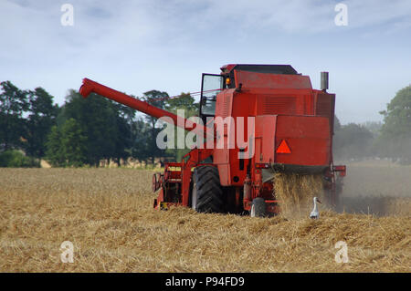
<svg viewBox="0 0 411 291">
<path fill-rule="evenodd" d="M 409 197 L 399 213 L 320 208 L 319 220 L 155 211 L 152 174 L 0 169 L 0 272 L 411 271 Z M 64 241 L 74 263 L 60 261 Z"/>
</svg>

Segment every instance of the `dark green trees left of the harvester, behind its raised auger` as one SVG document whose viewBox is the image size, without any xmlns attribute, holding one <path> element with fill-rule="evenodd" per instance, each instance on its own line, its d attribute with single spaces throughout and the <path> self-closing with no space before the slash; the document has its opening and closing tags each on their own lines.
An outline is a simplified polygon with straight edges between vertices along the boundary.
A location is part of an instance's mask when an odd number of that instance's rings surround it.
<svg viewBox="0 0 411 291">
<path fill-rule="evenodd" d="M 38 166 L 40 159 L 55 167 L 99 166 L 100 161 L 120 165 L 128 158 L 154 163 L 188 152 L 159 149 L 156 137 L 162 129 L 154 126 L 156 119 L 137 116 L 134 109 L 95 93 L 83 99 L 70 89 L 61 107 L 53 99 L 44 88 L 0 83 L 0 166 Z M 138 99 L 174 112 L 198 111 L 188 93 L 169 99 L 166 92 L 151 90 Z"/>
</svg>

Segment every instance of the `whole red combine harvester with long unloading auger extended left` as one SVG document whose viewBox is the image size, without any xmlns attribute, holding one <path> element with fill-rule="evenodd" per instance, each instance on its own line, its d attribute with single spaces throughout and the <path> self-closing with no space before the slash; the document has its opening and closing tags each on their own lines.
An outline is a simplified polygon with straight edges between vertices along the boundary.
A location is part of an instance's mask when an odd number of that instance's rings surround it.
<svg viewBox="0 0 411 291">
<path fill-rule="evenodd" d="M 84 98 L 94 92 L 153 117 L 168 117 L 185 130 L 202 132 L 205 140 L 214 136 L 211 147 L 199 146 L 153 175 L 153 191 L 159 191 L 154 208 L 184 205 L 197 212 L 265 216 L 280 211 L 275 172 L 321 174 L 325 198 L 332 205 L 338 199 L 345 166 L 332 161 L 335 94 L 327 88 L 326 72 L 318 90 L 289 65 L 227 65 L 220 75 L 203 74 L 199 118 L 206 126 L 181 122 L 171 112 L 88 78 L 79 92 Z M 210 118 L 214 124 L 207 123 Z M 238 135 L 247 136 L 246 145 L 232 142 Z M 224 146 L 216 146 L 221 141 Z"/>
</svg>

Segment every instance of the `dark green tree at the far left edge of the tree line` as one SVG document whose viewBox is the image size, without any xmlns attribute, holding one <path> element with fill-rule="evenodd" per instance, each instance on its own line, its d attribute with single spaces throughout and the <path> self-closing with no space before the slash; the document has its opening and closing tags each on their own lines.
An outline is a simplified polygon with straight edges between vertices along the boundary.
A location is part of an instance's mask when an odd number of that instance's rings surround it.
<svg viewBox="0 0 411 291">
<path fill-rule="evenodd" d="M 26 135 L 23 114 L 28 109 L 27 92 L 10 81 L 0 83 L 0 148 L 22 147 Z"/>
</svg>

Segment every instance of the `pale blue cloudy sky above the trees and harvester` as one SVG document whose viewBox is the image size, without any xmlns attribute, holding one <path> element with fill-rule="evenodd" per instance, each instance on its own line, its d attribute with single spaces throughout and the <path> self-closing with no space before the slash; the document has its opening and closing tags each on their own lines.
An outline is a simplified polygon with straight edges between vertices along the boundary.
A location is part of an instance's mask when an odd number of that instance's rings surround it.
<svg viewBox="0 0 411 291">
<path fill-rule="evenodd" d="M 65 3 L 74 26 L 61 25 Z M 348 26 L 334 23 L 338 3 Z M 314 88 L 330 72 L 342 123 L 378 121 L 411 84 L 411 1 L 2 0 L 0 47 L 0 80 L 46 88 L 59 104 L 82 78 L 177 95 L 224 64 L 290 64 Z"/>
</svg>

